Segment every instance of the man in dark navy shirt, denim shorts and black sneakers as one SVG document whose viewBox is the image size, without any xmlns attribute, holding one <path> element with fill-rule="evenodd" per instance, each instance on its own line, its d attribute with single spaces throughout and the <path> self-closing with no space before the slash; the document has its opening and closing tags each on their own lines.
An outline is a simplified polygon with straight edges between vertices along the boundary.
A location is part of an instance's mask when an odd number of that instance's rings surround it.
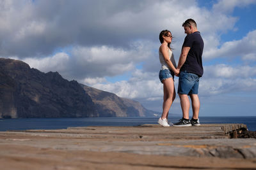
<svg viewBox="0 0 256 170">
<path fill-rule="evenodd" d="M 182 108 L 182 119 L 174 126 L 187 127 L 191 125 L 198 126 L 200 101 L 198 98 L 199 78 L 202 77 L 204 69 L 202 66 L 202 53 L 204 49 L 204 41 L 197 30 L 196 22 L 193 19 L 186 20 L 184 27 L 187 34 L 182 45 L 179 64 L 177 70 L 179 73 L 178 94 L 180 97 L 180 106 Z M 176 75 L 178 76 L 178 74 Z M 189 120 L 189 97 L 191 98 L 193 117 Z"/>
</svg>

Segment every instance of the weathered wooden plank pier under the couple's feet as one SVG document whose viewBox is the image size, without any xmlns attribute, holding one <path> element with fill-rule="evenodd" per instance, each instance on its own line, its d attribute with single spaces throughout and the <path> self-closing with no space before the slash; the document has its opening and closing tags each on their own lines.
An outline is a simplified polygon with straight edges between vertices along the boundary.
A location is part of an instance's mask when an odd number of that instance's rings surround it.
<svg viewBox="0 0 256 170">
<path fill-rule="evenodd" d="M 244 124 L 0 132 L 1 169 L 255 169 Z"/>
</svg>

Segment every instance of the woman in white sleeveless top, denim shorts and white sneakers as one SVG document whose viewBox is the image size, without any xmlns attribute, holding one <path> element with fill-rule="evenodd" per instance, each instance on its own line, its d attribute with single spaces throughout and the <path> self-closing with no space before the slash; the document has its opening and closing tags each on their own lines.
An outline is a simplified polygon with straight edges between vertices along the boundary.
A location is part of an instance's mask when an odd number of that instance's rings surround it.
<svg viewBox="0 0 256 170">
<path fill-rule="evenodd" d="M 161 31 L 159 34 L 161 46 L 159 47 L 159 60 L 161 63 L 161 70 L 159 71 L 159 79 L 163 83 L 164 101 L 163 113 L 158 120 L 158 124 L 163 127 L 170 127 L 168 124 L 168 113 L 172 103 L 175 99 L 174 75 L 179 74 L 176 69 L 175 59 L 173 57 L 172 48 L 172 33 L 168 30 Z"/>
</svg>

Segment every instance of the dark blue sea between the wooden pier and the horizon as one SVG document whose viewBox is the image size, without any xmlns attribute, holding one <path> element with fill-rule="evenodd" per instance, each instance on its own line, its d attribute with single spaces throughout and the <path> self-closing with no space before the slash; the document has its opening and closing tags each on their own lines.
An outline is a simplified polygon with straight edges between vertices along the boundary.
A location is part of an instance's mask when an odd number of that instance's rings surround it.
<svg viewBox="0 0 256 170">
<path fill-rule="evenodd" d="M 180 118 L 169 117 L 172 123 Z M 0 131 L 29 129 L 67 129 L 87 126 L 136 126 L 157 124 L 157 117 L 93 117 L 93 118 L 3 118 Z M 249 131 L 256 131 L 256 117 L 200 117 L 200 124 L 246 124 Z"/>
</svg>

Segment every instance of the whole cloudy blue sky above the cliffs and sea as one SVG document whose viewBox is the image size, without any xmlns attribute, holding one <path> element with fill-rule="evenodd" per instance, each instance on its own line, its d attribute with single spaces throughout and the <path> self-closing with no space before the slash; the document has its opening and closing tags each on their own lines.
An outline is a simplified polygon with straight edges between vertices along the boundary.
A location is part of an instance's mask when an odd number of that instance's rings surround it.
<svg viewBox="0 0 256 170">
<path fill-rule="evenodd" d="M 256 116 L 255 17 L 255 0 L 0 0 L 0 57 L 161 112 L 159 33 L 172 32 L 178 62 L 193 18 L 204 39 L 200 116 Z M 170 114 L 182 116 L 178 95 Z"/>
</svg>

